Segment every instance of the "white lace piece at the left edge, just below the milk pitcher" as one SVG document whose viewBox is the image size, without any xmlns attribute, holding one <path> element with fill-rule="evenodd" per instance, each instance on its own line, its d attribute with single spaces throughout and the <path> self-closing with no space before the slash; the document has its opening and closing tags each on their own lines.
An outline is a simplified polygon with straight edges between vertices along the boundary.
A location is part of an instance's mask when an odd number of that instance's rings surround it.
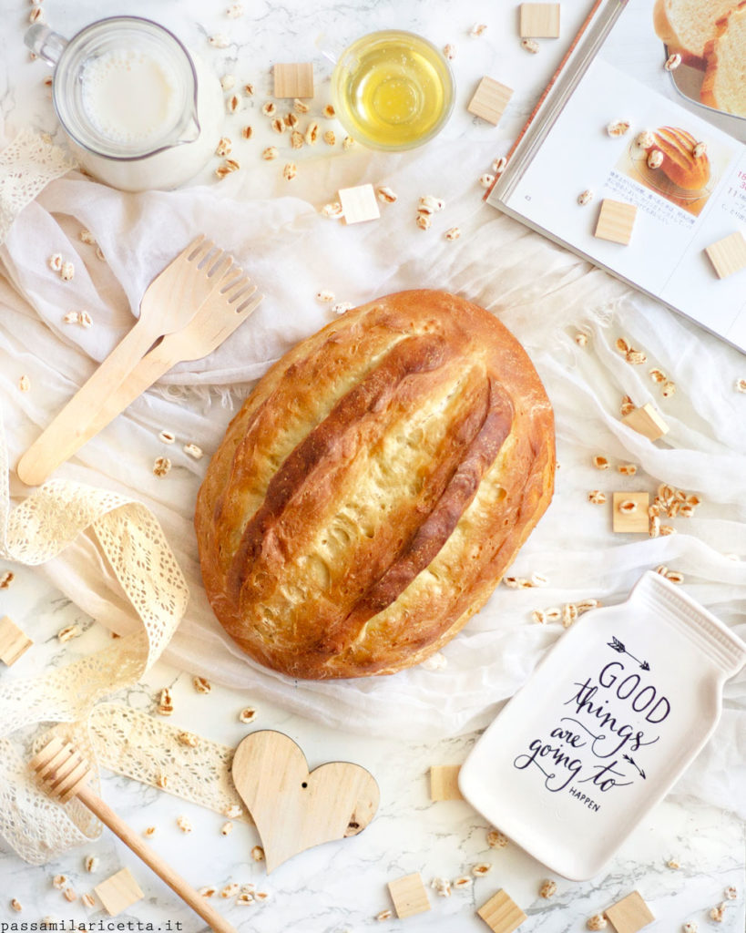
<svg viewBox="0 0 746 933">
<path fill-rule="evenodd" d="M 0 151 L 0 244 L 26 204 L 73 168 L 61 148 L 31 130 L 21 130 Z"/>
</svg>

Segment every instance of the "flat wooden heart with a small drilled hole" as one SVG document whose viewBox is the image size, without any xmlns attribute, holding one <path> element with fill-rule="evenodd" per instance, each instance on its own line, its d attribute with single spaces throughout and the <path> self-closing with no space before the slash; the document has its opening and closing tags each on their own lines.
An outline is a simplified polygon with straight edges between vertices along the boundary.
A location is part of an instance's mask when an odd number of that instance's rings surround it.
<svg viewBox="0 0 746 933">
<path fill-rule="evenodd" d="M 330 761 L 309 773 L 283 732 L 252 732 L 236 748 L 233 783 L 261 837 L 267 871 L 321 842 L 356 836 L 379 805 L 379 786 L 359 764 Z"/>
</svg>

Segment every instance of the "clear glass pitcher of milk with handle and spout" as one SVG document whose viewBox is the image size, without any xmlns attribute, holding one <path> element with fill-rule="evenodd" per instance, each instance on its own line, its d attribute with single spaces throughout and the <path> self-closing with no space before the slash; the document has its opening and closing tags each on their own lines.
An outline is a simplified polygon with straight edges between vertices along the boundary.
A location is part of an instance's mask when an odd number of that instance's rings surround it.
<svg viewBox="0 0 746 933">
<path fill-rule="evenodd" d="M 111 17 L 69 41 L 37 23 L 25 42 L 54 67 L 57 117 L 101 181 L 176 188 L 213 154 L 225 116 L 220 82 L 158 23 Z"/>
</svg>

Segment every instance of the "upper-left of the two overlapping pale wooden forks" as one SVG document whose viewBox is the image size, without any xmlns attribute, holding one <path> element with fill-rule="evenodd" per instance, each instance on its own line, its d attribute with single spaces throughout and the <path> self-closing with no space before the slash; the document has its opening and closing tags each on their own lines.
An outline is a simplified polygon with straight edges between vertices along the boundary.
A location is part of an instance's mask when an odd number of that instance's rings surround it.
<svg viewBox="0 0 746 933">
<path fill-rule="evenodd" d="M 16 471 L 35 486 L 75 453 L 90 420 L 155 341 L 184 327 L 205 299 L 220 287 L 233 259 L 200 236 L 182 250 L 145 289 L 140 317 L 126 336 L 46 430 L 21 456 Z M 70 453 L 63 453 L 69 451 Z"/>
</svg>

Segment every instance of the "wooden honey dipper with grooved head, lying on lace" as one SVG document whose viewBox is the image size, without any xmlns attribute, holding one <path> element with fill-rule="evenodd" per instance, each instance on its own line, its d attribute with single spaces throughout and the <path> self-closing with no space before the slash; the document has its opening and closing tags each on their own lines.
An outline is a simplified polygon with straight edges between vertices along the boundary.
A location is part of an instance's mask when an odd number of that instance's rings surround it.
<svg viewBox="0 0 746 933">
<path fill-rule="evenodd" d="M 129 846 L 132 852 L 142 858 L 148 868 L 156 872 L 159 878 L 175 891 L 191 909 L 200 914 L 202 920 L 211 926 L 215 933 L 236 933 L 217 911 L 204 898 L 187 884 L 170 865 L 157 855 L 143 840 L 88 787 L 90 765 L 76 749 L 54 738 L 35 756 L 29 767 L 35 771 L 49 796 L 67 803 L 73 797 L 84 803 L 119 839 Z"/>
</svg>

